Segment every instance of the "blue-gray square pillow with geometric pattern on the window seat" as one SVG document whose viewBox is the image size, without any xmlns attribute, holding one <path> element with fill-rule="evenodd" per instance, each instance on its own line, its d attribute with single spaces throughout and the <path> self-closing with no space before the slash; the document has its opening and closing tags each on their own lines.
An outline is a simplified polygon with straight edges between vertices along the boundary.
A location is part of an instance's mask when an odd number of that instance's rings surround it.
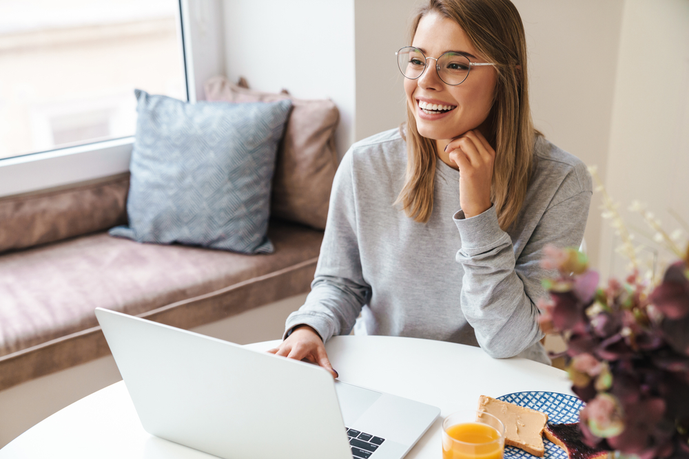
<svg viewBox="0 0 689 459">
<path fill-rule="evenodd" d="M 136 89 L 127 197 L 138 242 L 271 253 L 271 179 L 291 103 L 189 104 Z"/>
</svg>

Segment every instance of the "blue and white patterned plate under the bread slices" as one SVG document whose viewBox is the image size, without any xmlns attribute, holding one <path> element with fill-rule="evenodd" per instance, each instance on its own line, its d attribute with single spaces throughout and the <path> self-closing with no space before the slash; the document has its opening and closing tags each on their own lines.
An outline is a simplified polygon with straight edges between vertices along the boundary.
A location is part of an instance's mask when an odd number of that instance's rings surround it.
<svg viewBox="0 0 689 459">
<path fill-rule="evenodd" d="M 578 423 L 579 410 L 584 407 L 584 402 L 579 398 L 557 392 L 515 392 L 497 397 L 497 399 L 544 412 L 548 414 L 548 424 Z M 544 459 L 567 459 L 567 454 L 555 443 L 546 440 L 545 437 L 543 437 L 543 443 L 546 447 Z M 535 457 L 523 449 L 505 446 L 505 459 L 531 459 Z"/>
</svg>

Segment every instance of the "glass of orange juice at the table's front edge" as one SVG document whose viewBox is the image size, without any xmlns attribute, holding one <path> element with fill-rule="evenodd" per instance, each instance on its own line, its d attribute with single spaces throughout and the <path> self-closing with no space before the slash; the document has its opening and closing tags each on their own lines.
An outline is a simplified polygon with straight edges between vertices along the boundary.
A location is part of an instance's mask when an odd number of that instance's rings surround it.
<svg viewBox="0 0 689 459">
<path fill-rule="evenodd" d="M 500 433 L 489 425 L 455 424 L 444 433 L 442 459 L 502 459 Z"/>
</svg>

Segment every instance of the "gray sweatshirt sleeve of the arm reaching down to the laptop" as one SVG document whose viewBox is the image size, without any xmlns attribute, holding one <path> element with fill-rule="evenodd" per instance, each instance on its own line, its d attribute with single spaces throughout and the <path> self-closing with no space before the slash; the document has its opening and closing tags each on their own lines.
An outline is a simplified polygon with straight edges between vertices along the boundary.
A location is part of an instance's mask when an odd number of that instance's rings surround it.
<svg viewBox="0 0 689 459">
<path fill-rule="evenodd" d="M 304 306 L 287 317 L 285 334 L 301 324 L 313 327 L 324 342 L 336 334 L 349 334 L 362 306 L 371 298 L 371 286 L 362 276 L 351 162 L 349 151 L 333 180 L 311 292 Z"/>
</svg>

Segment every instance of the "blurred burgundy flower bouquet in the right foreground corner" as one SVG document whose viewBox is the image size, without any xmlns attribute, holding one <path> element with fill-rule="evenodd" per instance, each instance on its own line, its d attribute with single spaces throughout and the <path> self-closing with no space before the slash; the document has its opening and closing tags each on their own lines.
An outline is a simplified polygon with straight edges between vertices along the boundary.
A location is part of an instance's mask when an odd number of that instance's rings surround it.
<svg viewBox="0 0 689 459">
<path fill-rule="evenodd" d="M 621 250 L 633 257 L 615 206 L 608 209 Z M 542 264 L 559 275 L 544 281 L 550 299 L 539 303 L 539 323 L 567 344 L 566 371 L 586 402 L 579 428 L 591 447 L 618 457 L 689 458 L 689 248 L 679 255 L 655 285 L 633 259 L 624 281 L 600 287 L 583 253 L 546 250 Z"/>
</svg>

